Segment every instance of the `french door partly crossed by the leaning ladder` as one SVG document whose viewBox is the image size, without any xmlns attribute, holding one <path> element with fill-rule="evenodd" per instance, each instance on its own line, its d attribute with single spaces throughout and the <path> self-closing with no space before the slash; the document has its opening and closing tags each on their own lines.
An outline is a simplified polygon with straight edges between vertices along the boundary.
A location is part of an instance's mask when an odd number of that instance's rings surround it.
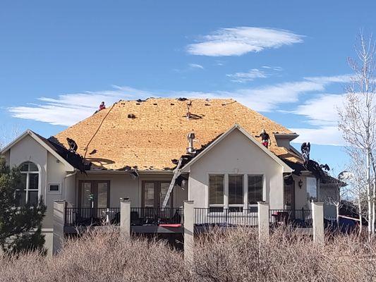
<svg viewBox="0 0 376 282">
<path fill-rule="evenodd" d="M 142 207 L 162 207 L 169 185 L 169 181 L 142 181 Z M 172 197 L 171 192 L 166 207 L 172 207 Z"/>
</svg>

